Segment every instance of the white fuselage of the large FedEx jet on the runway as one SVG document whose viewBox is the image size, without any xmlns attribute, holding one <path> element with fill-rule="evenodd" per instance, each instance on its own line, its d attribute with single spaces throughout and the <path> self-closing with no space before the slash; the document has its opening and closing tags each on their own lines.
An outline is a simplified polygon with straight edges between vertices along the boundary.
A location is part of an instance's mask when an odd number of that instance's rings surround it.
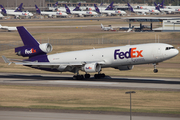
<svg viewBox="0 0 180 120">
<path fill-rule="evenodd" d="M 168 49 L 172 48 L 172 49 Z M 164 43 L 117 46 L 48 55 L 50 63 L 104 62 L 102 67 L 158 63 L 176 56 L 179 51 Z"/>
</svg>

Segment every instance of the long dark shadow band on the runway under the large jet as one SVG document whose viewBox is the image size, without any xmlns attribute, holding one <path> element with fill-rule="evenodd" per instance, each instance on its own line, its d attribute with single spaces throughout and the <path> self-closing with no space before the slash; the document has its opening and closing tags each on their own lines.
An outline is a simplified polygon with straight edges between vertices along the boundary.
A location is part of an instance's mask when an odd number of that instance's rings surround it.
<svg viewBox="0 0 180 120">
<path fill-rule="evenodd" d="M 0 79 L 9 78 L 12 80 L 7 81 L 61 81 L 67 80 L 72 81 L 72 77 L 57 77 L 57 76 L 41 76 L 41 75 L 0 75 Z M 16 79 L 16 80 L 13 80 Z M 74 80 L 74 81 L 93 81 L 93 82 L 126 82 L 126 83 L 155 83 L 155 84 L 180 84 L 180 81 L 171 81 L 171 80 L 159 80 L 155 78 L 148 78 L 148 79 L 138 79 L 138 78 L 111 78 L 106 76 L 103 79 L 94 79 L 91 77 L 90 79 L 83 79 L 83 80 Z"/>
</svg>

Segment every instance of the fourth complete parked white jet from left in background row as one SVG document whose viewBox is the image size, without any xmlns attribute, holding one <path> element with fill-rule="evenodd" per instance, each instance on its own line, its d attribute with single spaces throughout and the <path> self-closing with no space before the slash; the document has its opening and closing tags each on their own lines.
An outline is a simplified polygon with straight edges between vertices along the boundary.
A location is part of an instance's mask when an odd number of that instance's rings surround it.
<svg viewBox="0 0 180 120">
<path fill-rule="evenodd" d="M 101 10 L 96 6 L 96 4 L 94 4 L 94 7 L 96 9 L 96 12 L 101 13 L 101 14 L 107 14 L 107 15 L 117 15 L 117 14 L 125 15 L 126 14 L 126 12 L 122 10 Z"/>
</svg>

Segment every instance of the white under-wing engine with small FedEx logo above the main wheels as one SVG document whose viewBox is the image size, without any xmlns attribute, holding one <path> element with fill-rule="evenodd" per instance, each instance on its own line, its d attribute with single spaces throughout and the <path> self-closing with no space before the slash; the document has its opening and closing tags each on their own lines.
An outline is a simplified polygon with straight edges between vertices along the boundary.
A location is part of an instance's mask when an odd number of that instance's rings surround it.
<svg viewBox="0 0 180 120">
<path fill-rule="evenodd" d="M 82 71 L 85 71 L 87 73 L 99 72 L 100 70 L 101 65 L 99 65 L 98 63 L 85 64 L 82 67 Z"/>
</svg>

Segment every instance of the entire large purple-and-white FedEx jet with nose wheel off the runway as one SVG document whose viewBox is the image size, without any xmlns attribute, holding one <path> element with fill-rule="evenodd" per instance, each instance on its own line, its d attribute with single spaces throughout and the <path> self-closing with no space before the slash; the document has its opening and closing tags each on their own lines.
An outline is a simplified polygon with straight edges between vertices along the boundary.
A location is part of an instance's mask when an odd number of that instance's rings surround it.
<svg viewBox="0 0 180 120">
<path fill-rule="evenodd" d="M 131 70 L 134 65 L 149 63 L 154 64 L 156 73 L 157 63 L 171 59 L 179 53 L 169 44 L 148 43 L 47 55 L 52 51 L 51 44 L 40 44 L 23 26 L 17 27 L 17 30 L 24 46 L 15 48 L 15 53 L 28 59 L 14 60 L 2 56 L 6 63 L 52 72 L 69 71 L 76 74 L 73 79 L 90 78 L 89 73 L 98 73 L 94 77 L 103 78 L 105 74 L 101 73 L 102 68 Z M 79 70 L 86 74 L 79 75 Z"/>
</svg>

